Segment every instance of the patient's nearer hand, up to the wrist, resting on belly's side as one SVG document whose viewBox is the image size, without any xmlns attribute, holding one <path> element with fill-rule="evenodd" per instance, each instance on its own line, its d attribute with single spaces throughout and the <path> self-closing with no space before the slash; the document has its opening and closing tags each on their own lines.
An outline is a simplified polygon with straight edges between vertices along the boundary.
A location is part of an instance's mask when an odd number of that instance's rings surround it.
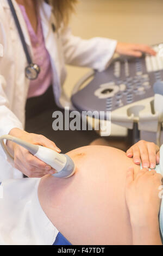
<svg viewBox="0 0 163 256">
<path fill-rule="evenodd" d="M 134 169 L 129 168 L 126 175 L 126 203 L 131 224 L 144 227 L 158 219 L 161 203 L 160 185 L 162 176 L 155 170 L 149 171 L 144 168 L 134 178 Z"/>
</svg>

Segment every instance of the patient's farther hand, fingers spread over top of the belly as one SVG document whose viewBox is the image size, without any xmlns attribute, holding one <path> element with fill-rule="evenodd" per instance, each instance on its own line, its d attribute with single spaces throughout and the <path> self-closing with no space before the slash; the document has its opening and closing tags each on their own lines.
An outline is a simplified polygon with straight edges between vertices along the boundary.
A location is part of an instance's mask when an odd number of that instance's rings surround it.
<svg viewBox="0 0 163 256">
<path fill-rule="evenodd" d="M 126 155 L 133 157 L 135 164 L 142 162 L 143 168 L 154 169 L 160 162 L 160 151 L 158 145 L 152 142 L 139 141 L 127 150 Z"/>
</svg>

